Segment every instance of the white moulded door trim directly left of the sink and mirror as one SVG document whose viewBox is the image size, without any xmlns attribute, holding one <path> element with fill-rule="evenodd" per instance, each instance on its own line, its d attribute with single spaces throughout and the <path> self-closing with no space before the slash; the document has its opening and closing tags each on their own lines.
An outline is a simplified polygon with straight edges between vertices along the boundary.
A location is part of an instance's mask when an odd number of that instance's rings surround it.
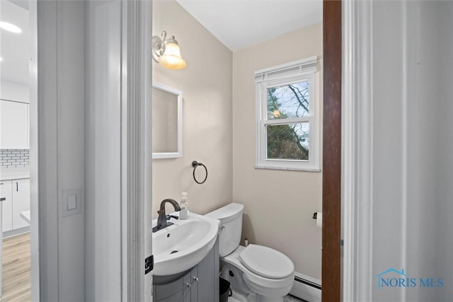
<svg viewBox="0 0 453 302">
<path fill-rule="evenodd" d="M 122 300 L 152 301 L 152 274 L 144 272 L 152 254 L 152 2 L 126 0 L 122 11 Z"/>
</svg>

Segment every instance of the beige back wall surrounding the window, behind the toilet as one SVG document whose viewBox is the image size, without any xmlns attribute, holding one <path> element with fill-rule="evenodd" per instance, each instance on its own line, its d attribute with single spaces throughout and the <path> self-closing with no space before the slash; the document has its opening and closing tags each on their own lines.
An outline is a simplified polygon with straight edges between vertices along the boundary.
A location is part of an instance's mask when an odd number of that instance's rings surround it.
<svg viewBox="0 0 453 302">
<path fill-rule="evenodd" d="M 322 173 L 254 168 L 254 71 L 314 55 L 322 59 L 321 23 L 234 53 L 233 199 L 245 206 L 242 238 L 284 252 L 296 272 L 321 279 L 321 228 L 312 216 L 322 207 Z"/>
</svg>

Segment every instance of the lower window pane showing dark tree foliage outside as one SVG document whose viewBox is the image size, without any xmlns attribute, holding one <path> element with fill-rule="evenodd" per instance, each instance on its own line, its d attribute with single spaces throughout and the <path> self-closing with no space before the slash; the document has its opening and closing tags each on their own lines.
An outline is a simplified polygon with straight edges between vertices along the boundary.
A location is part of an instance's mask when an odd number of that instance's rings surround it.
<svg viewBox="0 0 453 302">
<path fill-rule="evenodd" d="M 309 160 L 309 122 L 268 124 L 267 159 Z"/>
</svg>

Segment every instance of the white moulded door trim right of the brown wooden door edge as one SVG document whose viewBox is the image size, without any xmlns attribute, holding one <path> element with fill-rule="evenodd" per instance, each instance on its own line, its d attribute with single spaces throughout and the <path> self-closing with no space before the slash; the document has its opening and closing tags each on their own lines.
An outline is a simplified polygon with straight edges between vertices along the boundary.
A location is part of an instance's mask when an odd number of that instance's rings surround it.
<svg viewBox="0 0 453 302">
<path fill-rule="evenodd" d="M 372 300 L 372 1 L 343 1 L 343 301 Z"/>
</svg>

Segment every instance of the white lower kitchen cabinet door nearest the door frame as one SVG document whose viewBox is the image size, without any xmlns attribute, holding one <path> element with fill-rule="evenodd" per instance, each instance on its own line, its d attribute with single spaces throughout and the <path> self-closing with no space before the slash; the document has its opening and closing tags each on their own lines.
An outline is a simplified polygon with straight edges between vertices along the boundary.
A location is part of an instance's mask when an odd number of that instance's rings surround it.
<svg viewBox="0 0 453 302">
<path fill-rule="evenodd" d="M 30 210 L 30 179 L 13 180 L 13 230 L 29 224 L 21 217 L 21 211 Z"/>
</svg>

